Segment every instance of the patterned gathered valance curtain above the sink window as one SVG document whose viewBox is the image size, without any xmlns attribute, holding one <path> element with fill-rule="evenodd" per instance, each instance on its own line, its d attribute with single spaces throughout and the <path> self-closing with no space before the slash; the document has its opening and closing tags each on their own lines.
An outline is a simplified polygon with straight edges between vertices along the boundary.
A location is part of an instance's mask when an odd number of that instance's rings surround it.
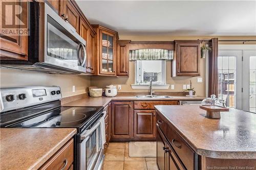
<svg viewBox="0 0 256 170">
<path fill-rule="evenodd" d="M 130 50 L 130 60 L 172 60 L 174 52 L 163 49 Z"/>
</svg>

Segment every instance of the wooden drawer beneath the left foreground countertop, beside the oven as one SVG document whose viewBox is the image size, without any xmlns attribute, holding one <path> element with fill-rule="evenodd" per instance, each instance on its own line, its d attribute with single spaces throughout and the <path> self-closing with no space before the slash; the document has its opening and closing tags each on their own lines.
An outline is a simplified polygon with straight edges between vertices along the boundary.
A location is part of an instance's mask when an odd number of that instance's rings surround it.
<svg viewBox="0 0 256 170">
<path fill-rule="evenodd" d="M 68 141 L 55 155 L 40 169 L 69 169 L 74 160 L 74 139 Z M 65 167 L 65 168 L 64 168 Z"/>
</svg>

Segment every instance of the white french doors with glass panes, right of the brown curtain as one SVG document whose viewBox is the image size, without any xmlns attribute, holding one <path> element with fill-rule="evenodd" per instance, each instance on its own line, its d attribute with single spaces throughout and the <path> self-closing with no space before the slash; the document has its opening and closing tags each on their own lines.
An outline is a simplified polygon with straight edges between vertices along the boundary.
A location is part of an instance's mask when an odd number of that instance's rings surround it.
<svg viewBox="0 0 256 170">
<path fill-rule="evenodd" d="M 256 49 L 243 48 L 219 45 L 218 98 L 228 107 L 256 112 Z"/>
</svg>

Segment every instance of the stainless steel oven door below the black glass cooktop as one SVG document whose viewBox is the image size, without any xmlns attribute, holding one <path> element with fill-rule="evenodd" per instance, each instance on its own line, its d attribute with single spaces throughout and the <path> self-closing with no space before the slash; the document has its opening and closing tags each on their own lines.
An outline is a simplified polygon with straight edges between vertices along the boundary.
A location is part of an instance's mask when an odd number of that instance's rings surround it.
<svg viewBox="0 0 256 170">
<path fill-rule="evenodd" d="M 80 143 L 80 170 L 100 169 L 104 159 L 103 149 L 97 152 L 96 136 L 100 122 L 97 122 L 90 130 L 81 134 Z"/>
</svg>

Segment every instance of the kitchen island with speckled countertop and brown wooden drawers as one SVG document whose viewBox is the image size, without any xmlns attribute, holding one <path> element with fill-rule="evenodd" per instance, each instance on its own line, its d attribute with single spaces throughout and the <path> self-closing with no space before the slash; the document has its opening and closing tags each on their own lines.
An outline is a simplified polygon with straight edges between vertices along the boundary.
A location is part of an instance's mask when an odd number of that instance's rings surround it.
<svg viewBox="0 0 256 170">
<path fill-rule="evenodd" d="M 199 106 L 155 106 L 159 169 L 255 169 L 256 114 L 206 118 Z"/>
</svg>

